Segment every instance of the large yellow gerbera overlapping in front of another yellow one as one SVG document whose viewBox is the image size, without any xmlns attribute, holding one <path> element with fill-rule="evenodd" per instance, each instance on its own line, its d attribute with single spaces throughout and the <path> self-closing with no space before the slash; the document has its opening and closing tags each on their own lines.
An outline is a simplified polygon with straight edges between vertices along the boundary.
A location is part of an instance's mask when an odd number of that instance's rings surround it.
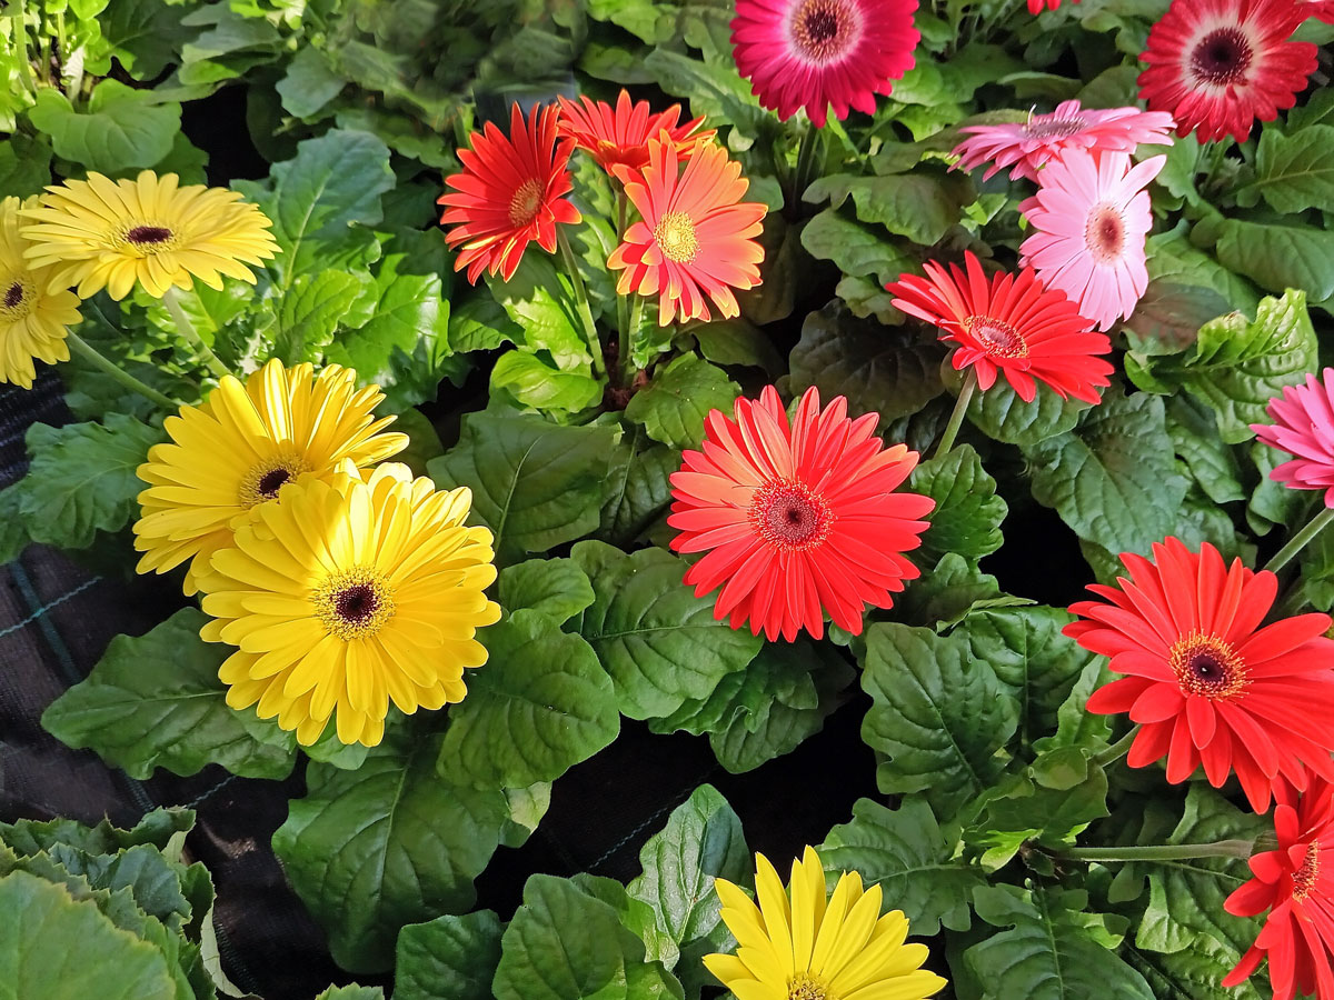
<svg viewBox="0 0 1334 1000">
<path fill-rule="evenodd" d="M 487 660 L 476 629 L 500 617 L 491 532 L 463 521 L 472 492 L 435 489 L 407 465 L 366 481 L 346 463 L 303 476 L 213 553 L 200 579 L 200 635 L 240 647 L 219 675 L 227 704 L 259 703 L 303 744 L 335 715 L 343 743 L 376 745 L 392 700 L 403 712 L 463 699 L 463 671 Z"/>
</svg>

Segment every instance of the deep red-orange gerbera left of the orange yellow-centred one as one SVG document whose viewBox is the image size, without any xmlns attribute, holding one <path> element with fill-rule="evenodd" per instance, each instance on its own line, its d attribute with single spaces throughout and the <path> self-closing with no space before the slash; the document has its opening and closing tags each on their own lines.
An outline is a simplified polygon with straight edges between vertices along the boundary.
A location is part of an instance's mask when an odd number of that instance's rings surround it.
<svg viewBox="0 0 1334 1000">
<path fill-rule="evenodd" d="M 446 179 L 454 188 L 440 197 L 448 205 L 444 241 L 459 249 L 454 269 L 468 268 L 476 284 L 483 271 L 514 277 L 531 240 L 548 253 L 556 249 L 556 224 L 578 223 L 579 211 L 562 197 L 570 191 L 571 140 L 556 141 L 556 108 L 534 109 L 527 125 L 515 104 L 510 135 L 492 123 L 472 133 L 472 148 L 459 149 L 463 171 Z"/>
</svg>

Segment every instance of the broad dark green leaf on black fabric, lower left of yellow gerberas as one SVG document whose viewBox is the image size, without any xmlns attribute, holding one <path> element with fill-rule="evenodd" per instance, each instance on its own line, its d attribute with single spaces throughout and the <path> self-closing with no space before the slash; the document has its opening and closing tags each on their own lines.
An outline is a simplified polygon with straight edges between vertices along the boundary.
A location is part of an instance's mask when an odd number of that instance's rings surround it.
<svg viewBox="0 0 1334 1000">
<path fill-rule="evenodd" d="M 140 780 L 159 767 L 193 775 L 205 764 L 241 777 L 287 777 L 291 733 L 253 709 L 227 707 L 217 668 L 232 651 L 199 637 L 207 620 L 183 608 L 137 639 L 116 636 L 88 679 L 47 708 L 43 727 Z"/>
</svg>

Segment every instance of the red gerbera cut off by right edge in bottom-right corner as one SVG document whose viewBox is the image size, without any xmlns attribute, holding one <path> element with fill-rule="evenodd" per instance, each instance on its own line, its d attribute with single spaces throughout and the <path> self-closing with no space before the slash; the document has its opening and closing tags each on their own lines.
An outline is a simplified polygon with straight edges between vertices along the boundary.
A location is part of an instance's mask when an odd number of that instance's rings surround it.
<svg viewBox="0 0 1334 1000">
<path fill-rule="evenodd" d="M 1313 777 L 1295 805 L 1279 803 L 1274 835 L 1278 849 L 1253 855 L 1255 877 L 1223 903 L 1234 916 L 1270 913 L 1222 985 L 1245 983 L 1267 957 L 1274 1000 L 1334 997 L 1334 787 Z"/>
</svg>

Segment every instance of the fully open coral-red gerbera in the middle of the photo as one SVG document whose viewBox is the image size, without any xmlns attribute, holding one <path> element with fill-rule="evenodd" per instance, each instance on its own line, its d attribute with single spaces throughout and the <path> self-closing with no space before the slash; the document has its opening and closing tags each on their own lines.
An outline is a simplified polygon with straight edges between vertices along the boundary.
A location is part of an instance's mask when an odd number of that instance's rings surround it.
<svg viewBox="0 0 1334 1000">
<path fill-rule="evenodd" d="M 772 387 L 738 399 L 735 420 L 710 411 L 703 451 L 671 476 L 667 524 L 680 529 L 672 549 L 708 553 L 686 583 L 696 596 L 722 584 L 714 617 L 791 641 L 803 628 L 819 639 L 828 612 L 856 635 L 864 604 L 888 608 L 918 576 L 902 553 L 920 544 L 935 503 L 896 492 L 918 455 L 886 449 L 878 420 L 850 420 L 842 396 L 820 411 L 814 388 L 791 424 Z"/>
</svg>

